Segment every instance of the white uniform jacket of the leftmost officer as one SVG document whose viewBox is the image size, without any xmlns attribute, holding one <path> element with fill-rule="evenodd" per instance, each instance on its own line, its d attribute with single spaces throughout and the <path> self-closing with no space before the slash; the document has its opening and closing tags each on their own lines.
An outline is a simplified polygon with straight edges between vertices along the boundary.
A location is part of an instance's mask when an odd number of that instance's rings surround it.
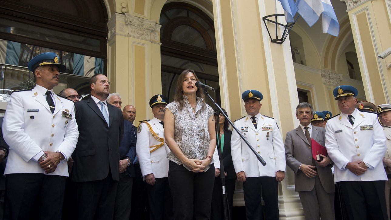
<svg viewBox="0 0 391 220">
<path fill-rule="evenodd" d="M 9 155 L 4 175 L 14 173 L 45 173 L 34 156 L 42 151 L 59 151 L 65 156 L 56 171 L 47 175 L 68 176 L 67 159 L 73 153 L 79 131 L 75 121 L 75 106 L 68 99 L 54 94 L 54 114 L 46 101 L 45 88 L 14 92 L 3 122 L 4 140 Z M 70 114 L 72 119 L 63 116 Z M 42 152 L 43 154 L 43 152 Z"/>
</svg>

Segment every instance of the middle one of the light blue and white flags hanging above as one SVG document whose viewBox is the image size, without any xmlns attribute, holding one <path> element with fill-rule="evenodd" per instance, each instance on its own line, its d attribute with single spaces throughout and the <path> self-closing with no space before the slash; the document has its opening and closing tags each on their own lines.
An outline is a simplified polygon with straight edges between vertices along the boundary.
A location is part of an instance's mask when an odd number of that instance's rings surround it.
<svg viewBox="0 0 391 220">
<path fill-rule="evenodd" d="M 296 5 L 300 16 L 310 27 L 319 20 L 319 16 L 325 11 L 321 0 L 296 0 Z"/>
</svg>

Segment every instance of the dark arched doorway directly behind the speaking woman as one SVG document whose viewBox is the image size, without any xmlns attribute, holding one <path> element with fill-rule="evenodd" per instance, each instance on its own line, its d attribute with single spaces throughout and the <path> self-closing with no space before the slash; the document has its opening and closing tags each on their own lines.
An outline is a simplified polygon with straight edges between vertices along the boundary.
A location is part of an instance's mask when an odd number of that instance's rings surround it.
<svg viewBox="0 0 391 220">
<path fill-rule="evenodd" d="M 210 95 L 220 104 L 213 20 L 193 5 L 171 2 L 161 10 L 160 24 L 162 93 L 172 101 L 179 74 L 193 69 L 201 82 L 216 89 Z"/>
</svg>

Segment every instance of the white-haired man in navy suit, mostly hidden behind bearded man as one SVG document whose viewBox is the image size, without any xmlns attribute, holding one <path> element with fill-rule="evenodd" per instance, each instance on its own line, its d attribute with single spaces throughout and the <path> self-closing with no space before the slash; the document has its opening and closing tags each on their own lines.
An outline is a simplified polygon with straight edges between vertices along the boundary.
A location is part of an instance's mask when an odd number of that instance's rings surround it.
<svg viewBox="0 0 391 220">
<path fill-rule="evenodd" d="M 121 109 L 122 100 L 118 93 L 111 93 L 107 102 Z M 114 220 L 129 219 L 132 200 L 133 177 L 135 168 L 133 160 L 136 157 L 136 136 L 133 124 L 124 120 L 124 137 L 122 137 L 119 153 L 120 181 L 118 182 L 117 195 L 115 196 Z"/>
</svg>

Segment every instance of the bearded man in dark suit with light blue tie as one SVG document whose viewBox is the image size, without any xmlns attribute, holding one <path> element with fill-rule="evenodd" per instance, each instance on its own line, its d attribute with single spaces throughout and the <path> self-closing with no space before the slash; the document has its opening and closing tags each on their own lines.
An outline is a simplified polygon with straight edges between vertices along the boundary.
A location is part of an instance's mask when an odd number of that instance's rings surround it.
<svg viewBox="0 0 391 220">
<path fill-rule="evenodd" d="M 105 75 L 92 76 L 91 97 L 75 102 L 80 135 L 72 154 L 76 187 L 73 219 L 113 218 L 124 120 L 121 110 L 106 103 L 109 84 Z"/>
</svg>

